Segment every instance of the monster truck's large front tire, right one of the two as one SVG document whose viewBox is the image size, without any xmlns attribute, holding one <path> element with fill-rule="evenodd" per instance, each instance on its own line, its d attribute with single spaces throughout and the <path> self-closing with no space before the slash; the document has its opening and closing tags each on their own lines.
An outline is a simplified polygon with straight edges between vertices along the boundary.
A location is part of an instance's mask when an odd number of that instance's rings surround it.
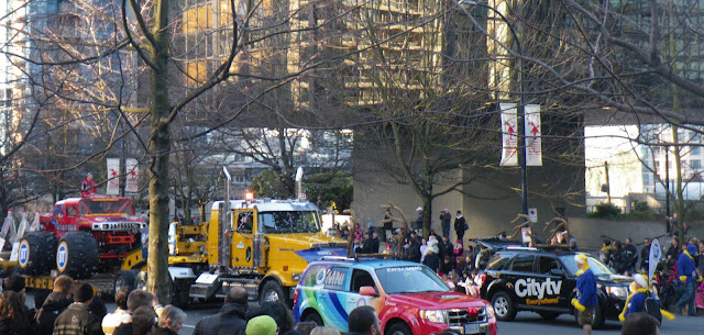
<svg viewBox="0 0 704 335">
<path fill-rule="evenodd" d="M 56 247 L 56 269 L 74 279 L 90 278 L 98 267 L 98 243 L 90 233 L 67 233 Z"/>
</svg>

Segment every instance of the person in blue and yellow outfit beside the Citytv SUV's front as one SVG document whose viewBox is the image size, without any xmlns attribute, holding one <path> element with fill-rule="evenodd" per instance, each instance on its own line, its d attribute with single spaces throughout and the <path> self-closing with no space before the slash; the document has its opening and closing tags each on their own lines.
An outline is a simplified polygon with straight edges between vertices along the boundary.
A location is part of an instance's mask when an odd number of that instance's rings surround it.
<svg viewBox="0 0 704 335">
<path fill-rule="evenodd" d="M 590 335 L 592 334 L 595 308 L 598 304 L 596 279 L 590 269 L 586 255 L 575 255 L 574 261 L 579 270 L 576 272 L 576 298 L 572 299 L 572 305 L 579 311 L 578 323 L 582 326 L 584 335 Z"/>
</svg>

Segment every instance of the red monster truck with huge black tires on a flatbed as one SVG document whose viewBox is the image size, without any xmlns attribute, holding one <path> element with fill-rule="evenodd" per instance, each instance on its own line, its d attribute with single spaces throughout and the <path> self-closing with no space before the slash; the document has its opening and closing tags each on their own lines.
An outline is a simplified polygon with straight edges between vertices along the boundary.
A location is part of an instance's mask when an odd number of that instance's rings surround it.
<svg viewBox="0 0 704 335">
<path fill-rule="evenodd" d="M 99 267 L 119 267 L 139 247 L 140 230 L 146 226 L 134 215 L 130 199 L 96 194 L 56 202 L 40 223 L 42 231 L 20 242 L 21 272 L 35 276 L 56 269 L 72 278 L 89 278 Z"/>
</svg>

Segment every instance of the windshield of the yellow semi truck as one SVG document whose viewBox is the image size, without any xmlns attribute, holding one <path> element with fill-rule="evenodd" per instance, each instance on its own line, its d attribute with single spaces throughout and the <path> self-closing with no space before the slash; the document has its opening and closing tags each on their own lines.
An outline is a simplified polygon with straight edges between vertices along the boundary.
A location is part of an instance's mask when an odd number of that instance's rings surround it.
<svg viewBox="0 0 704 335">
<path fill-rule="evenodd" d="M 260 212 L 258 216 L 260 233 L 287 234 L 320 232 L 318 212 L 315 211 Z"/>
</svg>

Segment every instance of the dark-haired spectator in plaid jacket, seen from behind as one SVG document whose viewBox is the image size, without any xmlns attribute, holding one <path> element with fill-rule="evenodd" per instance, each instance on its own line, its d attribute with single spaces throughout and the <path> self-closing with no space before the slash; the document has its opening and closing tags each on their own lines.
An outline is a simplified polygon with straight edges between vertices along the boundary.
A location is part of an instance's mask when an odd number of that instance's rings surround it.
<svg viewBox="0 0 704 335">
<path fill-rule="evenodd" d="M 56 317 L 54 335 L 102 335 L 100 322 L 90 312 L 92 288 L 79 282 L 74 287 L 74 302 Z"/>
</svg>

